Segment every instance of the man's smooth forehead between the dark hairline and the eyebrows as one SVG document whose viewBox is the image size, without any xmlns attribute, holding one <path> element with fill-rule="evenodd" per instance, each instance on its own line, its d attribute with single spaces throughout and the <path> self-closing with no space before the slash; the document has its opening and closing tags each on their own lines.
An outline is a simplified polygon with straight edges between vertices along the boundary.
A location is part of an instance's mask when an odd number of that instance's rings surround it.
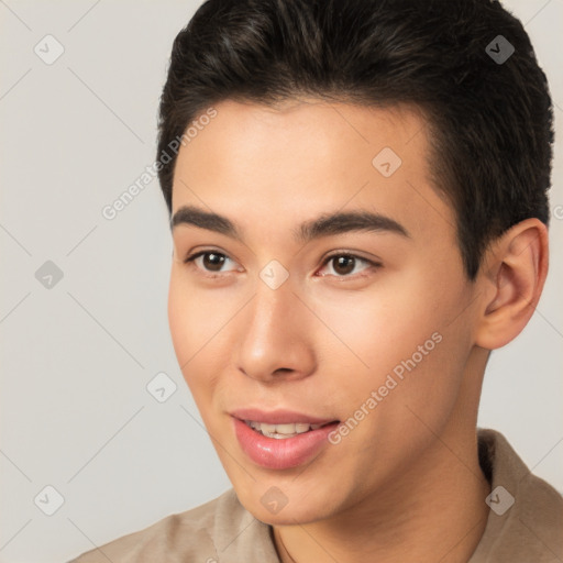
<svg viewBox="0 0 563 563">
<path fill-rule="evenodd" d="M 343 208 L 419 230 L 453 224 L 431 184 L 428 128 L 415 108 L 294 99 L 276 107 L 227 100 L 214 109 L 179 151 L 173 212 L 203 205 L 273 231 L 289 228 L 289 218 Z"/>
</svg>

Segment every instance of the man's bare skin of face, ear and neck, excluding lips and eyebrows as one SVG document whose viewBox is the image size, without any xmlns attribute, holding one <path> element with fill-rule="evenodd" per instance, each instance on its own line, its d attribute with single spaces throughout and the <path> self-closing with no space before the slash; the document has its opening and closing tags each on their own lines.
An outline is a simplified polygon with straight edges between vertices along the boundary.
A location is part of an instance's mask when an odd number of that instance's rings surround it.
<svg viewBox="0 0 563 563">
<path fill-rule="evenodd" d="M 244 242 L 176 225 L 168 317 L 179 365 L 241 503 L 274 527 L 284 562 L 467 561 L 490 492 L 476 449 L 483 374 L 489 350 L 512 340 L 533 312 L 548 268 L 545 228 L 536 219 L 514 227 L 470 282 L 453 210 L 429 179 L 420 112 L 316 99 L 276 108 L 227 100 L 216 109 L 179 151 L 173 214 L 187 205 L 220 213 Z M 388 178 L 372 164 L 383 147 L 402 161 Z M 352 210 L 391 218 L 409 236 L 292 239 L 303 221 Z M 219 271 L 209 260 L 184 263 L 202 250 L 228 260 Z M 379 266 L 358 260 L 346 273 L 325 262 L 332 251 Z M 289 273 L 275 290 L 260 278 L 272 260 Z M 241 450 L 229 411 L 346 420 L 437 332 L 440 343 L 416 368 L 307 465 L 266 470 Z M 277 515 L 261 503 L 273 486 L 287 498 Z"/>
</svg>

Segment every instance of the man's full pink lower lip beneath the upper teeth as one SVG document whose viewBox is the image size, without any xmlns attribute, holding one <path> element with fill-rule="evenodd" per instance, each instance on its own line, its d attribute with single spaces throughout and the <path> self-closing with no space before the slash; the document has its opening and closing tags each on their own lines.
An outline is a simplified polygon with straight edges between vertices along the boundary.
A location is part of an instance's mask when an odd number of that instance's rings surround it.
<svg viewBox="0 0 563 563">
<path fill-rule="evenodd" d="M 234 432 L 243 452 L 256 464 L 268 470 L 288 470 L 308 462 L 329 443 L 328 435 L 339 422 L 309 430 L 294 438 L 268 438 L 233 417 Z"/>
</svg>

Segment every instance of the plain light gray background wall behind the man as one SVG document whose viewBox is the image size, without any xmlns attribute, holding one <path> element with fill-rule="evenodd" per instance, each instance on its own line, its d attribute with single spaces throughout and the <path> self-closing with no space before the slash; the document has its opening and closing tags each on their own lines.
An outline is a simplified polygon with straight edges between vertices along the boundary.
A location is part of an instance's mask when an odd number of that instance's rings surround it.
<svg viewBox="0 0 563 563">
<path fill-rule="evenodd" d="M 154 161 L 172 42 L 198 4 L 0 0 L 1 562 L 66 561 L 230 486 L 169 339 L 157 180 L 113 221 L 101 214 Z M 563 0 L 506 5 L 548 74 L 561 139 Z M 65 49 L 52 65 L 34 53 L 47 34 Z M 549 282 L 493 354 L 479 416 L 560 490 L 562 147 Z M 46 261 L 64 274 L 51 289 L 35 278 Z M 177 384 L 163 404 L 145 388 L 159 372 Z M 46 485 L 65 499 L 51 517 L 34 504 Z"/>
</svg>

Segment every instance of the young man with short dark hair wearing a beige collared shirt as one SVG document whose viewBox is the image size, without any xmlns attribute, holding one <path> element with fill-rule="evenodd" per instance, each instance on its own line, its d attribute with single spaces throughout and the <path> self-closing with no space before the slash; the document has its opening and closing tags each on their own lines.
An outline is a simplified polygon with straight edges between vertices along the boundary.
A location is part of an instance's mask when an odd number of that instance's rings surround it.
<svg viewBox="0 0 563 563">
<path fill-rule="evenodd" d="M 476 429 L 545 280 L 552 141 L 498 2 L 206 2 L 158 169 L 174 346 L 233 489 L 75 561 L 561 561 L 561 496 Z"/>
</svg>

